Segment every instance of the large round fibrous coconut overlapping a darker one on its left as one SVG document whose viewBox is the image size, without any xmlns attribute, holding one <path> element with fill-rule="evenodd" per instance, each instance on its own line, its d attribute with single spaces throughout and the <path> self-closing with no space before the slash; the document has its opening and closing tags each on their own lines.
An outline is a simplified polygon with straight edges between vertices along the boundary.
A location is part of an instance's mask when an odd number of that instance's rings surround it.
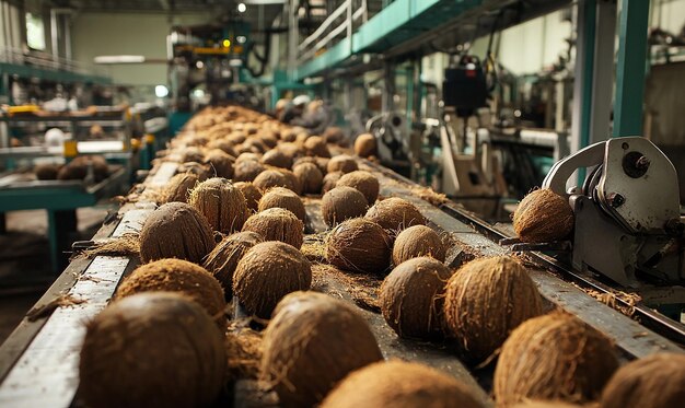
<svg viewBox="0 0 685 408">
<path fill-rule="evenodd" d="M 480 362 L 500 348 L 511 330 L 541 315 L 543 301 L 525 267 L 499 256 L 472 260 L 454 273 L 444 312 L 462 351 Z"/>
</svg>

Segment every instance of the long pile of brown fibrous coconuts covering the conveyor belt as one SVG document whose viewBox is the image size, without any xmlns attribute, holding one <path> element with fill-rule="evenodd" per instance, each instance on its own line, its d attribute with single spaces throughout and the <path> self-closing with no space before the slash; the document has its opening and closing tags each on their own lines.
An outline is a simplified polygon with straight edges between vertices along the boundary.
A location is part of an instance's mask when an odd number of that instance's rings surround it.
<svg viewBox="0 0 685 408">
<path fill-rule="evenodd" d="M 611 341 L 546 314 L 512 257 L 445 265 L 454 244 L 429 225 L 428 203 L 381 196 L 360 165 L 373 136 L 349 144 L 340 129 L 310 135 L 236 106 L 195 115 L 153 170 L 172 162 L 176 174 L 129 197 L 158 207 L 137 237 L 141 265 L 86 323 L 83 405 L 211 406 L 254 381 L 283 407 L 484 406 L 448 373 L 385 361 L 371 313 L 396 341 L 495 366 L 497 404 L 599 400 L 618 366 Z M 340 275 L 369 282 L 375 312 L 316 282 Z"/>
</svg>

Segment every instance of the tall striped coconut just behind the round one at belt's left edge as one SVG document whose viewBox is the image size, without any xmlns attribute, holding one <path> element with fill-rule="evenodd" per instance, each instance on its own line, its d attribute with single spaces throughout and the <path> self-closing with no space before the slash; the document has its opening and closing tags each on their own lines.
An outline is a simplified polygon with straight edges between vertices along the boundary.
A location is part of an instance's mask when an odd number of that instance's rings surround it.
<svg viewBox="0 0 685 408">
<path fill-rule="evenodd" d="M 245 196 L 221 177 L 198 184 L 190 191 L 188 203 L 207 218 L 214 231 L 222 234 L 240 231 L 248 217 Z"/>
</svg>

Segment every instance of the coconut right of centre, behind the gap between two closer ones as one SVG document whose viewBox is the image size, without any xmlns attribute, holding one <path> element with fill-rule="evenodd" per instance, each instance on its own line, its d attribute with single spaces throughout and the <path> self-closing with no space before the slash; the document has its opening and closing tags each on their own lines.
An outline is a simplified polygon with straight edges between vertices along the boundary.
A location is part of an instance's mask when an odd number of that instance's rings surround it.
<svg viewBox="0 0 685 408">
<path fill-rule="evenodd" d="M 411 202 L 398 197 L 376 202 L 367 211 L 367 218 L 392 233 L 427 223 L 423 214 Z"/>
</svg>

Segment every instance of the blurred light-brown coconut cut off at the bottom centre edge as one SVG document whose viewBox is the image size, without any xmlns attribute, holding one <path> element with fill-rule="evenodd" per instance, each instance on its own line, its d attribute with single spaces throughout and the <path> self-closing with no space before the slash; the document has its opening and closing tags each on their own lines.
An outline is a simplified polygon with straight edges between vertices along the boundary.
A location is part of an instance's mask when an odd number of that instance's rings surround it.
<svg viewBox="0 0 685 408">
<path fill-rule="evenodd" d="M 423 364 L 393 360 L 369 364 L 349 374 L 321 408 L 461 407 L 480 408 L 468 387 Z"/>
</svg>

